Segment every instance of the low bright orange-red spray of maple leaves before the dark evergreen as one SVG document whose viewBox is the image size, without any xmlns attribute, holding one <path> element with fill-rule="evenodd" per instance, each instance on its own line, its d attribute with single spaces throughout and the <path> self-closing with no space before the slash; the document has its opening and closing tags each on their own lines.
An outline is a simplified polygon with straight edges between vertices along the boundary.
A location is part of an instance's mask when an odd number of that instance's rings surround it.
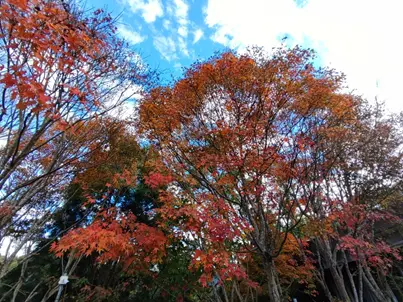
<svg viewBox="0 0 403 302">
<path fill-rule="evenodd" d="M 98 253 L 98 261 L 120 258 L 126 269 L 161 262 L 166 238 L 158 229 L 136 222 L 133 214 L 119 214 L 116 209 L 100 211 L 86 228 L 71 231 L 51 247 L 56 256 L 73 249 L 77 255 Z"/>
</svg>

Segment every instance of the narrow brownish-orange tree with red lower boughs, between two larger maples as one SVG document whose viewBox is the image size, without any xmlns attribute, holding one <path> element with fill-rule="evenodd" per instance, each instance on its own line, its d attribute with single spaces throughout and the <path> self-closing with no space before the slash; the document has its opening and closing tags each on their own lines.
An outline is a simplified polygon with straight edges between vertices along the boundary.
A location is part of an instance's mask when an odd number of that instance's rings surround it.
<svg viewBox="0 0 403 302">
<path fill-rule="evenodd" d="M 167 238 L 154 222 L 156 193 L 142 179 L 152 152 L 138 146 L 127 122 L 109 119 L 108 125 L 105 146 L 91 152 L 71 184 L 84 197 L 86 219 L 51 246 L 57 257 L 79 261 L 78 269 L 85 267 L 83 261 L 92 261 L 102 270 L 113 267 L 125 276 L 124 286 L 120 278 L 86 282 L 79 294 L 85 299 L 108 300 L 113 286 L 121 287 L 113 294 L 119 296 L 139 275 L 152 278 L 150 267 L 161 264 L 167 254 Z M 49 297 L 56 289 L 53 285 Z"/>
</svg>

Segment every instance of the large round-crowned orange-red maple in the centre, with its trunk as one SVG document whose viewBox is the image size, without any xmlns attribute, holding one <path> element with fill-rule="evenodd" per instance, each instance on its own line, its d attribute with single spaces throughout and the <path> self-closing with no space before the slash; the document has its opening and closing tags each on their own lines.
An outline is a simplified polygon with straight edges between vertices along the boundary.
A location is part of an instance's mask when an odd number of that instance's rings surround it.
<svg viewBox="0 0 403 302">
<path fill-rule="evenodd" d="M 312 58 L 298 47 L 271 57 L 225 53 L 141 104 L 139 127 L 172 179 L 162 215 L 180 217 L 182 231 L 202 242 L 195 261 L 207 280 L 231 270 L 243 277 L 232 242 L 258 253 L 270 301 L 283 296 L 274 260 L 317 193 L 310 173 L 332 164 L 318 146 L 347 131 L 359 104 L 339 91 L 343 76 Z"/>
</svg>

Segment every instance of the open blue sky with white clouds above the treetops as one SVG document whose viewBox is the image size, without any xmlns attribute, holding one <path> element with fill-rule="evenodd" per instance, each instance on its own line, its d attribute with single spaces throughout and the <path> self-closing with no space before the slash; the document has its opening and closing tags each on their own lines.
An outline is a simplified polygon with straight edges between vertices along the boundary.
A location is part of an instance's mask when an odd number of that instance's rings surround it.
<svg viewBox="0 0 403 302">
<path fill-rule="evenodd" d="M 166 79 L 226 48 L 314 48 L 349 90 L 403 109 L 403 11 L 398 0 L 87 0 L 120 15 L 118 32 Z"/>
</svg>

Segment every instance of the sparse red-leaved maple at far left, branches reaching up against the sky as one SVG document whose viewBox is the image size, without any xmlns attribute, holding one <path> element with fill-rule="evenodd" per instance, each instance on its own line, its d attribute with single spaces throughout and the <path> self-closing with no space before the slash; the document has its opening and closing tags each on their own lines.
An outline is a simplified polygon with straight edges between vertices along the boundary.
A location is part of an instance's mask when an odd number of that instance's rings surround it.
<svg viewBox="0 0 403 302">
<path fill-rule="evenodd" d="M 0 2 L 0 240 L 19 250 L 59 204 L 59 188 L 102 146 L 92 120 L 132 97 L 145 72 L 102 10 L 72 2 Z"/>
</svg>

